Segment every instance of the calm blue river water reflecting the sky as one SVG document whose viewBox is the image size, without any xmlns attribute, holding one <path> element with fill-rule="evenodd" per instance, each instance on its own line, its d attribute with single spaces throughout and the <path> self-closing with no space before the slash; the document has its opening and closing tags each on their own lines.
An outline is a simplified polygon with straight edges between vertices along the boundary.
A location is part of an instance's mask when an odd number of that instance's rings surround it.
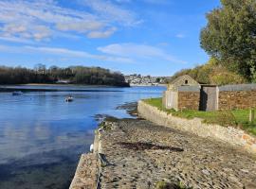
<svg viewBox="0 0 256 189">
<path fill-rule="evenodd" d="M 46 89 L 0 93 L 0 188 L 68 188 L 97 128 L 95 115 L 130 117 L 119 105 L 160 96 L 164 87 L 19 86 Z M 50 92 L 58 89 L 57 92 Z M 75 100 L 64 102 L 72 94 Z"/>
</svg>

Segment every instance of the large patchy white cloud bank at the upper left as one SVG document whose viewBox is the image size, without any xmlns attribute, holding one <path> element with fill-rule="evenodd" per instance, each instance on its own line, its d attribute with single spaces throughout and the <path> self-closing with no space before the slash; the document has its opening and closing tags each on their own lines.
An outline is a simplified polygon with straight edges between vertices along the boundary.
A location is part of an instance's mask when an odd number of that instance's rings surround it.
<svg viewBox="0 0 256 189">
<path fill-rule="evenodd" d="M 139 22 L 132 11 L 110 1 L 83 0 L 82 5 L 89 9 L 67 9 L 54 0 L 1 0 L 0 37 L 40 41 L 75 31 L 89 38 L 107 38 L 117 26 Z"/>
</svg>

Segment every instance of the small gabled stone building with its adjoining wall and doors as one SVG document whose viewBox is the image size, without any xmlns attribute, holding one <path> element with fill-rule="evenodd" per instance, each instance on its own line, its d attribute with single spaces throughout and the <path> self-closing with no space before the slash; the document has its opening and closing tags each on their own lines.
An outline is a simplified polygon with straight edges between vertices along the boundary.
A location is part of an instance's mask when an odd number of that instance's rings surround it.
<svg viewBox="0 0 256 189">
<path fill-rule="evenodd" d="M 256 84 L 200 85 L 190 76 L 177 77 L 163 94 L 163 106 L 175 111 L 218 111 L 256 107 Z"/>
</svg>

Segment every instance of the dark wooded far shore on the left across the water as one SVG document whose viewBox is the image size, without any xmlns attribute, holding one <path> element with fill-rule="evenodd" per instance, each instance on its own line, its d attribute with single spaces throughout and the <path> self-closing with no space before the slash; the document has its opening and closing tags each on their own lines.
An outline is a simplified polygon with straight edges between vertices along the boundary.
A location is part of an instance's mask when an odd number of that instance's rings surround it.
<svg viewBox="0 0 256 189">
<path fill-rule="evenodd" d="M 0 67 L 0 84 L 54 83 L 68 79 L 74 84 L 128 86 L 118 72 L 100 67 L 73 66 L 59 68 L 37 64 L 33 70 L 21 67 Z"/>
</svg>

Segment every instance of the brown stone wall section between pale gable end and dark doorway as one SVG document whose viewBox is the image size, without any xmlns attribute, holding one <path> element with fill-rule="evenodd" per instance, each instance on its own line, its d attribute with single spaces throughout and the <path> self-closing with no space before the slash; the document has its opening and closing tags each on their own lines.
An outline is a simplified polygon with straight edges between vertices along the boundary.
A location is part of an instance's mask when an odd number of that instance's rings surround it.
<svg viewBox="0 0 256 189">
<path fill-rule="evenodd" d="M 200 92 L 178 92 L 178 111 L 199 110 Z"/>
</svg>

